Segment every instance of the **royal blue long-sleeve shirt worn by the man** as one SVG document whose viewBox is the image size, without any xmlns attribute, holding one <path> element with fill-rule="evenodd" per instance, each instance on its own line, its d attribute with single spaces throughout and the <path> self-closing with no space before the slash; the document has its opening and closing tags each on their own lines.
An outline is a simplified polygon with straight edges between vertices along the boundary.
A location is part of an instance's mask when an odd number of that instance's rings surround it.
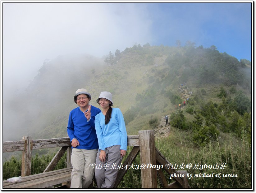
<svg viewBox="0 0 256 193">
<path fill-rule="evenodd" d="M 98 138 L 95 131 L 94 119 L 101 110 L 91 105 L 91 118 L 87 121 L 85 114 L 77 107 L 71 110 L 68 119 L 67 133 L 70 138 L 77 139 L 77 149 L 98 149 Z M 72 147 L 73 148 L 73 147 Z"/>
</svg>

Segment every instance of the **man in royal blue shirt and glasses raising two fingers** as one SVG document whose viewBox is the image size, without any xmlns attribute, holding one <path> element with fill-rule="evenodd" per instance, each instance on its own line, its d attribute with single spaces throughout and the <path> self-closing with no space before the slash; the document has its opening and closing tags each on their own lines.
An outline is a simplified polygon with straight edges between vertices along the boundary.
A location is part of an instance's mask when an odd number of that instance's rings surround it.
<svg viewBox="0 0 256 193">
<path fill-rule="evenodd" d="M 95 169 L 89 166 L 96 161 L 98 139 L 94 119 L 101 110 L 89 105 L 91 99 L 86 89 L 78 89 L 74 96 L 78 107 L 69 114 L 67 133 L 72 145 L 73 166 L 70 188 L 88 188 L 94 176 Z"/>
</svg>

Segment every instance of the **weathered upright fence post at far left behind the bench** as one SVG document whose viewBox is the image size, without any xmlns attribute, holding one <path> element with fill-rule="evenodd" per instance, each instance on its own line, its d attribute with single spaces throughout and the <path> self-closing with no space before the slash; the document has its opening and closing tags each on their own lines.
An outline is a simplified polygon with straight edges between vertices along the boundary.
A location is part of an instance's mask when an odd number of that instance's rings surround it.
<svg viewBox="0 0 256 193">
<path fill-rule="evenodd" d="M 31 151 L 32 151 L 32 139 L 31 136 L 23 136 L 22 139 L 25 141 L 25 150 L 22 150 L 22 161 L 21 161 L 21 176 L 31 175 Z"/>
</svg>

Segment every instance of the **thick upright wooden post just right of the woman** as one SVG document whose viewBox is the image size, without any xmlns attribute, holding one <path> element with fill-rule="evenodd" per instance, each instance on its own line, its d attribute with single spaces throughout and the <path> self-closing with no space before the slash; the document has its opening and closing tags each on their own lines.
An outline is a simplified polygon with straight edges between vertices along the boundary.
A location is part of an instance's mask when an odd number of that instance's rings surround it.
<svg viewBox="0 0 256 193">
<path fill-rule="evenodd" d="M 139 131 L 140 164 L 151 166 L 141 169 L 141 188 L 157 188 L 156 150 L 154 130 Z"/>
</svg>

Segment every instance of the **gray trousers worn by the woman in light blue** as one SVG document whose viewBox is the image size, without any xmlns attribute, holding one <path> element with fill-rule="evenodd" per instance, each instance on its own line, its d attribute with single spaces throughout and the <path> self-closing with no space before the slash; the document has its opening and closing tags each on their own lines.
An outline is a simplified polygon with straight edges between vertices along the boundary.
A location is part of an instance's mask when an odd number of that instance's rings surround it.
<svg viewBox="0 0 256 193">
<path fill-rule="evenodd" d="M 105 148 L 105 162 L 100 161 L 99 154 L 96 157 L 95 178 L 98 188 L 113 188 L 118 172 L 118 164 L 121 163 L 120 145 Z"/>
</svg>

